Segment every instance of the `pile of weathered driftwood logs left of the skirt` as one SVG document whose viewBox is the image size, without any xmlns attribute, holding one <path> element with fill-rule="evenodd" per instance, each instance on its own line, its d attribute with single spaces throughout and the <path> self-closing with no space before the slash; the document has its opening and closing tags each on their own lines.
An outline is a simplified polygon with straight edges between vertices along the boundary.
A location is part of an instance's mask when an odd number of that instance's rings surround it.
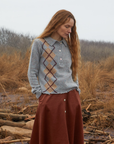
<svg viewBox="0 0 114 144">
<path fill-rule="evenodd" d="M 26 106 L 17 113 L 12 113 L 9 109 L 0 109 L 0 144 L 29 143 L 35 114 L 23 113 L 33 107 L 37 109 L 37 106 L 38 104 Z"/>
</svg>

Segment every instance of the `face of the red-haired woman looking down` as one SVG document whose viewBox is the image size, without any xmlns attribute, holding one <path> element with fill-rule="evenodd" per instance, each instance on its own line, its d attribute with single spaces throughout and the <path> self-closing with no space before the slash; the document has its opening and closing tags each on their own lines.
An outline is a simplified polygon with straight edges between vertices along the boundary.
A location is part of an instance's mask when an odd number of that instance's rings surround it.
<svg viewBox="0 0 114 144">
<path fill-rule="evenodd" d="M 74 20 L 70 18 L 69 21 L 66 21 L 63 25 L 61 25 L 57 29 L 57 33 L 60 35 L 60 37 L 67 38 L 68 35 L 71 33 L 73 26 L 74 26 Z"/>
</svg>

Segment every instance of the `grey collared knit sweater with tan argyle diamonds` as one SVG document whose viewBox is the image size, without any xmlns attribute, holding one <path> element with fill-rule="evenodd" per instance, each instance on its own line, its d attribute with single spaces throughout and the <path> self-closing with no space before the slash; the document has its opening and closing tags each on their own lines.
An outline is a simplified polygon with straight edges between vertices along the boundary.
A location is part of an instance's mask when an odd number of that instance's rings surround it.
<svg viewBox="0 0 114 144">
<path fill-rule="evenodd" d="M 80 94 L 78 77 L 75 82 L 72 79 L 71 64 L 71 53 L 65 39 L 35 39 L 28 67 L 32 93 L 39 98 L 42 93 L 60 94 L 76 89 Z"/>
</svg>

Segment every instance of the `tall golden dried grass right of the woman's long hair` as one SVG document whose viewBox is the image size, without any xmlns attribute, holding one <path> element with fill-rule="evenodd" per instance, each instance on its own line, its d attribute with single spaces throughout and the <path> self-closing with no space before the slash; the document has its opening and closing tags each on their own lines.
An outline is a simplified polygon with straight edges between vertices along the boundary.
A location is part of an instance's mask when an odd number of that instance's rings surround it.
<svg viewBox="0 0 114 144">
<path fill-rule="evenodd" d="M 99 63 L 83 62 L 79 71 L 81 97 L 96 97 L 96 92 L 114 87 L 114 56 Z"/>
</svg>

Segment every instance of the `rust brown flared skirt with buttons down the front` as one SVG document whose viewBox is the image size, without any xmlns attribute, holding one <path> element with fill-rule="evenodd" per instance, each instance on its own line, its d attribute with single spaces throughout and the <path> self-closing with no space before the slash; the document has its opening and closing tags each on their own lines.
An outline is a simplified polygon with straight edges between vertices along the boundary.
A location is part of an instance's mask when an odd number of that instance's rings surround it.
<svg viewBox="0 0 114 144">
<path fill-rule="evenodd" d="M 40 96 L 30 144 L 84 144 L 80 97 L 75 89 Z"/>
</svg>

